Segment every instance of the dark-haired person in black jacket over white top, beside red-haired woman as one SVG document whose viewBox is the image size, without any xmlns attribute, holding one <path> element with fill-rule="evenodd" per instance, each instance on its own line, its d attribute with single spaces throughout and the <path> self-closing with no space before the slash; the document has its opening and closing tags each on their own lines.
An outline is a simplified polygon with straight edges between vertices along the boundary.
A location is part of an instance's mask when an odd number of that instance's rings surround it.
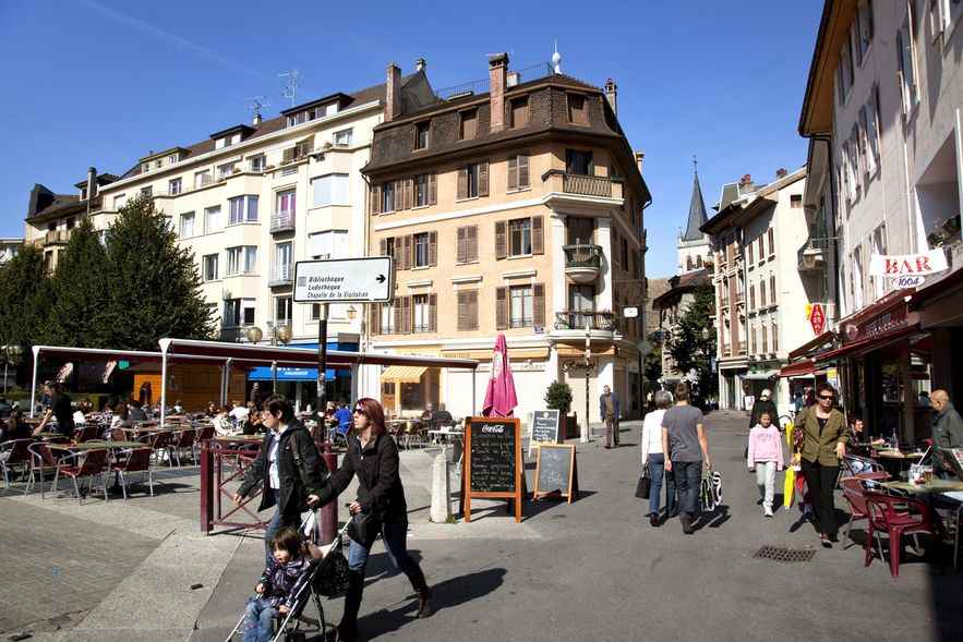
<svg viewBox="0 0 963 642">
<path fill-rule="evenodd" d="M 285 397 L 268 397 L 260 414 L 268 431 L 233 500 L 241 504 L 261 483 L 257 510 L 277 506 L 264 532 L 264 565 L 268 566 L 275 534 L 285 526 L 297 528 L 301 513 L 318 502 L 327 465 L 322 462 L 308 429 L 294 419 L 294 409 Z"/>
</svg>

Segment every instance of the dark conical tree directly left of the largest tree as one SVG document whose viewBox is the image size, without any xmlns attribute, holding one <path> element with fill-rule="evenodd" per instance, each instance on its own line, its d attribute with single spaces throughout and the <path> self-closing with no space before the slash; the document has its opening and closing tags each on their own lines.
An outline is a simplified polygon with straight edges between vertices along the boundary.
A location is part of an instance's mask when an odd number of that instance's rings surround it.
<svg viewBox="0 0 963 642">
<path fill-rule="evenodd" d="M 44 341 L 53 346 L 107 348 L 103 336 L 107 253 L 89 219 L 81 220 L 50 279 L 50 308 Z"/>
</svg>

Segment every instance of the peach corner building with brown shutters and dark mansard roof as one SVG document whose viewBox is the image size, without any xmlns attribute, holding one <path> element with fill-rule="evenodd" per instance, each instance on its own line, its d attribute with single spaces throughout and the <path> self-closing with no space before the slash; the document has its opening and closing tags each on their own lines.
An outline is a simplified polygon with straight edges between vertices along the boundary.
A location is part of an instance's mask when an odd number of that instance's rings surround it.
<svg viewBox="0 0 963 642">
<path fill-rule="evenodd" d="M 616 87 L 558 70 L 509 71 L 489 59 L 489 81 L 405 112 L 387 71 L 384 123 L 374 129 L 370 254 L 392 255 L 394 303 L 370 306 L 374 350 L 479 359 L 481 408 L 492 347 L 508 340 L 523 420 L 544 408 L 554 380 L 568 381 L 585 414 L 587 332 L 590 420 L 609 385 L 623 414 L 640 410 L 645 230 L 651 201 L 616 116 Z M 588 329 L 587 329 L 588 328 Z M 471 375 L 407 373 L 383 379 L 400 411 L 428 401 L 471 410 Z"/>
</svg>

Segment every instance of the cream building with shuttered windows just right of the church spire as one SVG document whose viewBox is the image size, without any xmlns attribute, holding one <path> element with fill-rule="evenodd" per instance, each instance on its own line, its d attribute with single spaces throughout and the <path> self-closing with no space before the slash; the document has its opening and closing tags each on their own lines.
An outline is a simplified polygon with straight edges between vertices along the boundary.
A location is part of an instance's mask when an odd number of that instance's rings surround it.
<svg viewBox="0 0 963 642">
<path fill-rule="evenodd" d="M 812 338 L 809 299 L 798 272 L 806 238 L 806 169 L 781 169 L 755 185 L 747 174 L 723 186 L 718 213 L 702 226 L 715 251 L 719 400 L 743 409 L 746 397 L 770 388 L 780 411 L 791 389 L 779 377 L 789 351 Z"/>
</svg>

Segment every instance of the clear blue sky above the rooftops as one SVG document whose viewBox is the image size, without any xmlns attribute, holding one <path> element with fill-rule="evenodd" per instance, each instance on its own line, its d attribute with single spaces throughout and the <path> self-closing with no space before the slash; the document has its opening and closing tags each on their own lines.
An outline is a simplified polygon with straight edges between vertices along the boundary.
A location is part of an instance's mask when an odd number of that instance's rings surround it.
<svg viewBox="0 0 963 642">
<path fill-rule="evenodd" d="M 821 2 L 453 5 L 0 0 L 0 235 L 23 234 L 34 183 L 72 193 L 92 165 L 120 173 L 248 121 L 250 96 L 284 109 L 278 72 L 301 71 L 301 101 L 424 57 L 441 88 L 485 77 L 489 53 L 508 51 L 516 69 L 547 61 L 556 38 L 565 73 L 616 81 L 622 125 L 646 153 L 650 277 L 675 271 L 694 154 L 709 207 L 723 182 L 806 161 L 796 123 Z"/>
</svg>

